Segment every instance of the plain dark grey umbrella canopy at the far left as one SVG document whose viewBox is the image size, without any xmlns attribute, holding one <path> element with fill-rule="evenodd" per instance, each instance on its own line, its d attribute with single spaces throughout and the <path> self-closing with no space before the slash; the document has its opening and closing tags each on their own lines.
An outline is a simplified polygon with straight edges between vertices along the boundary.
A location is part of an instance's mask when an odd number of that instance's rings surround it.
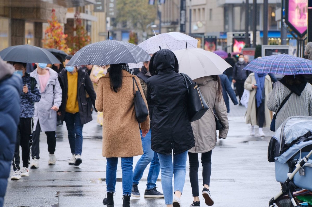
<svg viewBox="0 0 312 207">
<path fill-rule="evenodd" d="M 46 49 L 23 44 L 5 48 L 0 51 L 0 56 L 5 61 L 12 62 L 40 62 L 40 63 L 61 63 L 52 53 Z"/>
</svg>

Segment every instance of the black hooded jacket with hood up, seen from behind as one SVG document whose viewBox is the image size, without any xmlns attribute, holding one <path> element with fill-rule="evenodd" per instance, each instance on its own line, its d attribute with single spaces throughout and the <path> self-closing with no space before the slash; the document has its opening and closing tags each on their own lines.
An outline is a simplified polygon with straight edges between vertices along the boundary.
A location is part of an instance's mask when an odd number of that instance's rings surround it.
<svg viewBox="0 0 312 207">
<path fill-rule="evenodd" d="M 168 49 L 150 60 L 152 77 L 147 80 L 147 102 L 152 120 L 152 150 L 161 154 L 180 154 L 195 145 L 186 102 L 187 89 L 178 73 L 175 55 Z"/>
</svg>

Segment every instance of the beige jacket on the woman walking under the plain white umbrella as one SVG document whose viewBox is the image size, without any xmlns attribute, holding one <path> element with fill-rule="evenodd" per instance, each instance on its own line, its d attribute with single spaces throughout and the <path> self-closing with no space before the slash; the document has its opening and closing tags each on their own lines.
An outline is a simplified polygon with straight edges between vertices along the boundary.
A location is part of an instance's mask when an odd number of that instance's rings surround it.
<svg viewBox="0 0 312 207">
<path fill-rule="evenodd" d="M 227 138 L 229 123 L 227 120 L 227 106 L 224 103 L 222 93 L 217 95 L 218 82 L 213 81 L 211 76 L 194 80 L 200 87 L 203 96 L 210 107 L 216 110 L 217 117 L 221 120 L 223 129 L 219 131 L 219 137 Z M 195 146 L 188 150 L 191 153 L 204 153 L 212 150 L 217 142 L 215 117 L 210 109 L 204 116 L 191 123 L 195 137 Z"/>
</svg>

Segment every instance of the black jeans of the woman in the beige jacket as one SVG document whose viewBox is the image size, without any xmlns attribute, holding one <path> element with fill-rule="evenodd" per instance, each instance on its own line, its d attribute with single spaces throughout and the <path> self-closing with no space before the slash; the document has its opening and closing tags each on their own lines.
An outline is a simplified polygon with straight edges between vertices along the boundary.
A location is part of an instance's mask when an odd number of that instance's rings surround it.
<svg viewBox="0 0 312 207">
<path fill-rule="evenodd" d="M 211 175 L 211 154 L 209 152 L 202 153 L 202 185 L 210 186 L 210 175 Z M 188 159 L 190 162 L 190 182 L 192 187 L 193 197 L 199 196 L 198 192 L 198 154 L 188 153 Z"/>
</svg>

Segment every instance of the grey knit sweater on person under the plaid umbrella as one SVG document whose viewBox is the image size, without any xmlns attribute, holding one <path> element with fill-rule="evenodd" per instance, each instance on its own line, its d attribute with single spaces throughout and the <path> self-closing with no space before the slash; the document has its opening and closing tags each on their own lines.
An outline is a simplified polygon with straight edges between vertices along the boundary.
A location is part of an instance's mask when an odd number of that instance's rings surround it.
<svg viewBox="0 0 312 207">
<path fill-rule="evenodd" d="M 291 91 L 281 82 L 276 82 L 273 90 L 269 94 L 266 106 L 269 110 L 276 112 L 290 92 Z M 285 119 L 291 116 L 312 116 L 312 85 L 310 83 L 307 83 L 301 96 L 295 93 L 290 95 L 288 101 L 276 115 L 275 129 L 277 130 Z"/>
</svg>

